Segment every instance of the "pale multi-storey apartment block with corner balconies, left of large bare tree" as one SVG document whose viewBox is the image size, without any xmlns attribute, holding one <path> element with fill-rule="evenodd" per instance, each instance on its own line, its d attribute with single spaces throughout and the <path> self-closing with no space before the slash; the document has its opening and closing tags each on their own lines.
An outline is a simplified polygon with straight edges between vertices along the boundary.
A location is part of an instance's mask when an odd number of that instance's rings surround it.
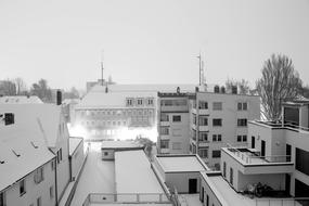
<svg viewBox="0 0 309 206">
<path fill-rule="evenodd" d="M 260 118 L 260 100 L 239 94 L 236 88 L 226 93 L 216 86 L 214 92 L 197 91 L 190 98 L 189 110 L 190 152 L 218 170 L 222 146 L 247 144 L 247 123 Z"/>
</svg>

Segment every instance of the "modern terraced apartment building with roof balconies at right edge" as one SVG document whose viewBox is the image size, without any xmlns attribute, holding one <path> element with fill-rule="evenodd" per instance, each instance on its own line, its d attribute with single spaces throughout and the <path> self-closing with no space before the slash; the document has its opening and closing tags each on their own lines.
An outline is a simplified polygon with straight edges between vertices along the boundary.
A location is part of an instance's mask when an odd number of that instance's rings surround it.
<svg viewBox="0 0 309 206">
<path fill-rule="evenodd" d="M 296 205 L 309 203 L 309 101 L 283 104 L 281 121 L 249 121 L 248 147 L 222 149 L 222 176 L 235 191 L 258 182 Z M 307 197 L 305 199 L 301 199 Z M 282 198 L 287 204 L 288 199 Z M 269 202 L 270 205 L 274 201 Z"/>
</svg>

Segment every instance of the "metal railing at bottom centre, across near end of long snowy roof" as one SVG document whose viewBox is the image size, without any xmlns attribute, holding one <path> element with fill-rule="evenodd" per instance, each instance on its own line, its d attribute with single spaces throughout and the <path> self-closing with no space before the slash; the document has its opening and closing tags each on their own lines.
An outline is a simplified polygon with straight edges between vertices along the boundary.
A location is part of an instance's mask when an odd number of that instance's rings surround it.
<svg viewBox="0 0 309 206">
<path fill-rule="evenodd" d="M 164 193 L 90 193 L 85 199 L 82 206 L 91 204 L 108 204 L 108 203 L 155 203 L 168 204 L 170 199 Z"/>
</svg>

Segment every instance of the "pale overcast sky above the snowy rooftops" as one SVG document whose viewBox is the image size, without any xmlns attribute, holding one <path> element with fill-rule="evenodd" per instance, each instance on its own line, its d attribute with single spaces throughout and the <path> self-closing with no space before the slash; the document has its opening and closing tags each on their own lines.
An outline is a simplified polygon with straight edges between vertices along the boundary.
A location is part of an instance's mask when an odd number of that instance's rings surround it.
<svg viewBox="0 0 309 206">
<path fill-rule="evenodd" d="M 198 83 L 199 52 L 208 83 L 281 53 L 309 85 L 309 0 L 0 0 L 0 79 Z"/>
</svg>

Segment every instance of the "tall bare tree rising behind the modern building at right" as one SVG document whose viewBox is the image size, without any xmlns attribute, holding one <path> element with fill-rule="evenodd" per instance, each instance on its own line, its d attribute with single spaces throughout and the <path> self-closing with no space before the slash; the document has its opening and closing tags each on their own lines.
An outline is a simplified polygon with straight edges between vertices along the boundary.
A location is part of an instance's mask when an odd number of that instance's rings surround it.
<svg viewBox="0 0 309 206">
<path fill-rule="evenodd" d="M 261 74 L 256 87 L 261 96 L 262 114 L 268 120 L 279 120 L 282 103 L 296 99 L 301 80 L 286 55 L 272 54 L 265 62 Z"/>
</svg>

